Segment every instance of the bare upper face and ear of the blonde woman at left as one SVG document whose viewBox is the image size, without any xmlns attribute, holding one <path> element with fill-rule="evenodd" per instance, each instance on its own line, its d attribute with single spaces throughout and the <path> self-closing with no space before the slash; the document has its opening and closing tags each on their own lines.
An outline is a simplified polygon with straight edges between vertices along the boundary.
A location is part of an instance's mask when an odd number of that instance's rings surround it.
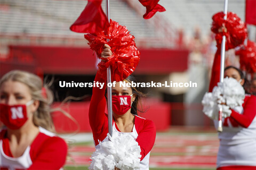
<svg viewBox="0 0 256 170">
<path fill-rule="evenodd" d="M 29 87 L 18 81 L 5 81 L 0 87 L 0 103 L 13 106 L 13 105 L 26 105 L 32 100 Z M 31 102 L 30 102 L 31 103 Z M 39 102 L 33 102 L 26 106 L 27 122 L 33 122 L 33 113 L 37 110 Z M 1 113 L 7 114 L 7 113 Z"/>
</svg>

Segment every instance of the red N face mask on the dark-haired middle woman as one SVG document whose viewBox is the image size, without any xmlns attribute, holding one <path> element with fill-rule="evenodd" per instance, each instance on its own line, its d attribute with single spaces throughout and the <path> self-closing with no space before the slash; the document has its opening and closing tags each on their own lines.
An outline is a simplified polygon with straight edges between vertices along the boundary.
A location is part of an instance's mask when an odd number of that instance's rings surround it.
<svg viewBox="0 0 256 170">
<path fill-rule="evenodd" d="M 112 96 L 113 112 L 118 115 L 125 114 L 131 108 L 131 96 Z"/>
</svg>

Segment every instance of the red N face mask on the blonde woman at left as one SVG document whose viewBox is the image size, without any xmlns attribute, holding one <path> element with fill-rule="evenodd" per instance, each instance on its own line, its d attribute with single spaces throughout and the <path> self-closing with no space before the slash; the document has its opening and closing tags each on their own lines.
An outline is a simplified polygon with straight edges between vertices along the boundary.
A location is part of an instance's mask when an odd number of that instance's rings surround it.
<svg viewBox="0 0 256 170">
<path fill-rule="evenodd" d="M 20 129 L 28 120 L 27 106 L 31 105 L 34 100 L 28 101 L 26 105 L 6 105 L 0 104 L 0 120 L 7 128 L 12 130 Z"/>
</svg>

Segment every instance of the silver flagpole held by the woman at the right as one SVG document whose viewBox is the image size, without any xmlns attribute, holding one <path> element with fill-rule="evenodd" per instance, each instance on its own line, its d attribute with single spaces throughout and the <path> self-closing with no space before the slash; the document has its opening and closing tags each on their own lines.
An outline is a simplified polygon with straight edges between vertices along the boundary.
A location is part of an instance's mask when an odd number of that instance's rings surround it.
<svg viewBox="0 0 256 170">
<path fill-rule="evenodd" d="M 228 0 L 225 0 L 224 5 L 224 20 L 227 20 L 228 13 Z M 224 79 L 224 64 L 225 64 L 225 45 L 226 45 L 226 36 L 222 36 L 221 42 L 221 62 L 220 62 L 220 82 L 223 82 Z M 222 132 L 222 108 L 219 110 L 219 124 L 218 131 Z"/>
</svg>

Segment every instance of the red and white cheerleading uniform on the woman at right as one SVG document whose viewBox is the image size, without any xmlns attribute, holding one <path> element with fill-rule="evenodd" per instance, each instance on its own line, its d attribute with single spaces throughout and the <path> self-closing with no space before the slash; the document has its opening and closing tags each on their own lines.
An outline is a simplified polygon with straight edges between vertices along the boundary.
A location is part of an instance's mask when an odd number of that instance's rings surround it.
<svg viewBox="0 0 256 170">
<path fill-rule="evenodd" d="M 220 49 L 215 54 L 209 91 L 220 79 Z M 231 109 L 218 133 L 217 169 L 256 169 L 256 97 L 245 95 L 242 106 Z M 217 126 L 218 121 L 214 121 Z"/>
</svg>

